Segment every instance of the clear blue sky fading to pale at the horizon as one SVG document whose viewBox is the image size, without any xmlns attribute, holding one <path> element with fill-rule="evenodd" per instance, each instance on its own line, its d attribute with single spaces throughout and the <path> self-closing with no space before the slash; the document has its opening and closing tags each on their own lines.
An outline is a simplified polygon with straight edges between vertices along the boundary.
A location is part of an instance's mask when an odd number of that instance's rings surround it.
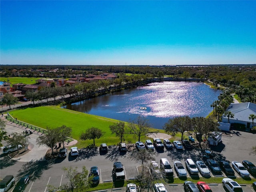
<svg viewBox="0 0 256 192">
<path fill-rule="evenodd" d="M 0 1 L 0 64 L 256 63 L 256 1 Z"/>
</svg>

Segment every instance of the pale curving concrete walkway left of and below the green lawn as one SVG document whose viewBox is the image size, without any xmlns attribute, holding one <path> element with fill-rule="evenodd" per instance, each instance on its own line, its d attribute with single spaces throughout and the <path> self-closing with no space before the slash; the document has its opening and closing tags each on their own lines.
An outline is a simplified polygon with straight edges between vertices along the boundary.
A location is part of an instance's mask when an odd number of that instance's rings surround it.
<svg viewBox="0 0 256 192">
<path fill-rule="evenodd" d="M 12 134 L 13 132 L 23 133 L 26 130 L 26 127 L 23 127 L 21 125 L 19 126 L 15 123 L 12 123 L 12 122 L 6 120 L 5 116 L 1 117 L 1 118 L 6 121 L 5 131 L 7 132 L 8 135 Z M 18 158 L 12 158 L 12 159 L 19 161 L 19 162 L 45 160 L 44 156 L 49 148 L 48 148 L 48 146 L 45 146 L 45 145 L 38 146 L 38 144 L 36 144 L 36 139 L 40 135 L 42 135 L 42 133 L 40 133 L 40 132 L 37 133 L 36 131 L 33 131 L 33 133 L 28 138 L 28 149 L 30 151 Z M 65 146 L 72 146 L 76 143 L 77 143 L 77 141 L 74 140 L 74 141 L 70 142 L 69 144 L 65 143 Z"/>
</svg>

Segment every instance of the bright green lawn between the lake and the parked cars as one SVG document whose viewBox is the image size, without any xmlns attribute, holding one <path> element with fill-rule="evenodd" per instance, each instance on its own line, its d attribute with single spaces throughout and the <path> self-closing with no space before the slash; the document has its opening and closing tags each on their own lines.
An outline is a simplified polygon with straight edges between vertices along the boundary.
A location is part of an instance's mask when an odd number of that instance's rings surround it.
<svg viewBox="0 0 256 192">
<path fill-rule="evenodd" d="M 97 146 L 103 142 L 106 142 L 108 145 L 116 145 L 120 142 L 120 139 L 111 134 L 109 129 L 109 126 L 118 122 L 118 120 L 76 112 L 60 108 L 58 106 L 26 108 L 23 110 L 14 110 L 9 113 L 13 118 L 17 118 L 17 120 L 27 122 L 44 129 L 47 129 L 47 127 L 55 128 L 62 125 L 71 127 L 71 138 L 78 140 L 78 144 L 76 144 L 78 148 L 84 148 L 93 143 L 93 140 L 82 141 L 79 139 L 81 132 L 92 126 L 98 127 L 105 132 L 102 138 L 95 139 L 95 144 Z M 164 132 L 164 130 L 152 128 L 150 129 L 150 132 Z M 146 137 L 142 136 L 141 140 L 146 140 Z M 126 143 L 135 143 L 136 141 L 137 137 L 135 138 L 134 135 L 126 134 Z"/>
</svg>

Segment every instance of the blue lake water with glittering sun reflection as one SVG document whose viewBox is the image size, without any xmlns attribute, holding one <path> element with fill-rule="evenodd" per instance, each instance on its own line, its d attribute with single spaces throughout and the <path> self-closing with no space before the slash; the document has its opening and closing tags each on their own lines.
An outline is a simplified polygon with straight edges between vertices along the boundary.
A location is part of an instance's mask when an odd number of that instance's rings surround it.
<svg viewBox="0 0 256 192">
<path fill-rule="evenodd" d="M 63 108 L 128 122 L 138 115 L 152 127 L 162 129 L 177 116 L 206 117 L 220 90 L 196 82 L 156 82 L 105 96 L 76 102 Z M 146 110 L 141 110 L 146 107 Z"/>
</svg>

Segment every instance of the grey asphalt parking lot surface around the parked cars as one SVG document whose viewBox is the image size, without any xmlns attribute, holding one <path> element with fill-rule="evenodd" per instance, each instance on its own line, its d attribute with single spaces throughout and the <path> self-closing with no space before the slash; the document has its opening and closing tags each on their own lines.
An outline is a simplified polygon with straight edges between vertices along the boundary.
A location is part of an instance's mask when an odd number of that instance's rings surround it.
<svg viewBox="0 0 256 192">
<path fill-rule="evenodd" d="M 34 134 L 31 135 L 32 138 L 36 137 Z M 250 147 L 255 144 L 255 135 L 245 132 L 235 132 L 232 137 L 222 136 L 222 143 L 217 147 L 212 148 L 212 154 L 214 154 L 214 159 L 218 162 L 219 160 L 227 161 L 238 161 L 249 160 L 256 164 L 255 156 L 250 156 Z M 69 151 L 68 151 L 69 153 Z M 192 150 L 166 150 L 158 151 L 156 150 L 156 161 L 160 162 L 161 158 L 168 158 L 171 166 L 174 166 L 174 161 L 180 160 L 185 166 L 185 160 L 187 158 L 192 158 L 194 161 L 201 160 L 199 156 L 200 151 Z M 136 162 L 130 158 L 132 152 L 120 153 L 117 147 L 109 147 L 106 154 L 100 154 L 98 148 L 92 149 L 80 149 L 80 155 L 78 157 L 68 156 L 63 159 L 56 159 L 55 161 L 45 162 L 45 161 L 34 161 L 34 162 L 12 162 L 8 160 L 6 156 L 1 155 L 1 178 L 4 175 L 14 175 L 16 177 L 16 182 L 18 179 L 24 175 L 29 174 L 32 176 L 30 184 L 26 188 L 26 192 L 46 192 L 49 190 L 49 185 L 60 186 L 68 182 L 62 167 L 78 167 L 78 170 L 82 169 L 82 166 L 86 166 L 89 170 L 92 166 L 98 166 L 100 172 L 100 183 L 112 182 L 112 167 L 114 162 L 122 162 L 124 165 L 125 178 L 126 180 L 132 180 L 137 176 L 137 167 L 140 166 L 139 162 Z M 235 176 L 239 177 L 235 172 Z M 202 178 L 201 174 L 198 176 L 192 176 L 200 180 Z M 210 174 L 210 177 L 226 177 L 224 173 L 222 175 Z M 177 177 L 174 171 L 174 181 Z M 187 175 L 187 180 L 190 180 L 189 174 Z M 255 179 L 252 178 L 252 181 Z M 184 191 L 182 185 L 166 185 L 169 191 Z M 213 191 L 222 191 L 224 189 L 222 184 L 213 185 Z M 244 191 L 252 191 L 250 185 L 243 186 Z M 122 188 L 124 190 L 124 188 Z M 11 190 L 10 190 L 11 191 Z"/>
</svg>

